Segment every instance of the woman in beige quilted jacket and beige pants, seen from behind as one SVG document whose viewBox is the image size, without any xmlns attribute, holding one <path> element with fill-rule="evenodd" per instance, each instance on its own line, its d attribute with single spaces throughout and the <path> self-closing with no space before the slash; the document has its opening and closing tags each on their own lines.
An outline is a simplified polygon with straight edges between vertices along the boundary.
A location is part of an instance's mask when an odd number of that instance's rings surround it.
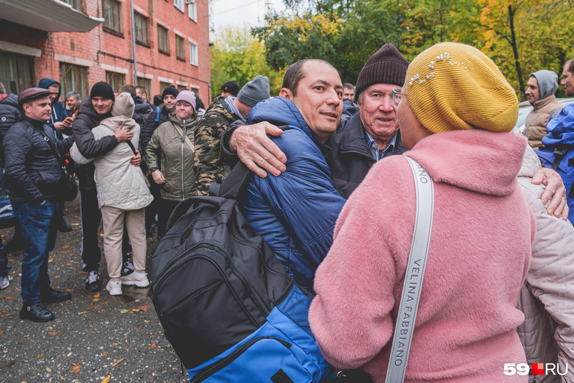
<svg viewBox="0 0 574 383">
<path fill-rule="evenodd" d="M 112 117 L 103 119 L 100 125 L 92 129 L 95 140 L 113 136 L 115 129 L 121 125 L 134 133 L 131 141 L 121 142 L 110 152 L 94 159 L 94 180 L 102 211 L 104 253 L 110 276 L 106 289 L 110 295 L 121 295 L 122 284 L 138 287 L 149 285 L 145 273 L 145 207 L 152 202 L 153 196 L 141 168 L 130 164 L 139 141 L 139 125 L 131 118 L 133 113 L 134 101 L 128 92 L 123 92 L 115 98 Z M 77 163 L 86 164 L 91 161 L 82 157 L 76 144 L 70 149 L 70 154 Z M 135 271 L 121 277 L 124 220 L 130 237 Z"/>
</svg>

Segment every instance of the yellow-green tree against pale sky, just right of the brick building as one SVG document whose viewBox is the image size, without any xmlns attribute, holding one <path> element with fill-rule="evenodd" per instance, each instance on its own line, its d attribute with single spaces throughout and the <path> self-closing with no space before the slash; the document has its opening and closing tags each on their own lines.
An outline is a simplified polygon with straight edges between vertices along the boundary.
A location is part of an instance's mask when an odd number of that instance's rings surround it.
<svg viewBox="0 0 574 383">
<path fill-rule="evenodd" d="M 228 26 L 220 30 L 211 47 L 212 97 L 221 93 L 220 88 L 227 81 L 235 80 L 241 89 L 257 75 L 267 76 L 271 95 L 278 95 L 282 73 L 267 65 L 264 49 L 247 28 Z"/>
</svg>

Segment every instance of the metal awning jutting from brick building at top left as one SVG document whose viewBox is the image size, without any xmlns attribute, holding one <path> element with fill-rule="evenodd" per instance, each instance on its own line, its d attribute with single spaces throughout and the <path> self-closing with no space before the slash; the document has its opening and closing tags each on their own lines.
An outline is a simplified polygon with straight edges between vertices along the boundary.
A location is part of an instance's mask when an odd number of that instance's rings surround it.
<svg viewBox="0 0 574 383">
<path fill-rule="evenodd" d="M 0 0 L 0 18 L 46 32 L 89 32 L 104 21 L 60 0 Z"/>
</svg>

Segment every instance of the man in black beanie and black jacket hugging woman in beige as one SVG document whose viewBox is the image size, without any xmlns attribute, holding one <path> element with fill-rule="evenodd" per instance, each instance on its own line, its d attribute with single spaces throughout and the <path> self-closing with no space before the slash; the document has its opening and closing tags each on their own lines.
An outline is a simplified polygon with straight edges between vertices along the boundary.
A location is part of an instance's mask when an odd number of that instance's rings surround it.
<svg viewBox="0 0 574 383">
<path fill-rule="evenodd" d="M 114 90 L 110 84 L 100 81 L 95 83 L 90 91 L 90 97 L 80 105 L 80 113 L 72 122 L 72 132 L 77 148 L 86 158 L 95 158 L 114 149 L 119 142 L 131 140 L 134 134 L 129 129 L 119 126 L 114 136 L 102 137 L 95 140 L 92 129 L 99 125 L 102 119 L 110 117 L 114 105 Z M 131 158 L 131 164 L 139 166 L 141 155 L 137 153 Z M 98 208 L 98 194 L 94 181 L 94 163 L 82 165 L 77 171 L 80 181 L 80 214 L 82 215 L 82 260 L 83 270 L 88 272 L 86 289 L 98 291 L 102 281 L 98 273 L 102 253 L 99 248 L 98 227 L 102 214 Z"/>
</svg>

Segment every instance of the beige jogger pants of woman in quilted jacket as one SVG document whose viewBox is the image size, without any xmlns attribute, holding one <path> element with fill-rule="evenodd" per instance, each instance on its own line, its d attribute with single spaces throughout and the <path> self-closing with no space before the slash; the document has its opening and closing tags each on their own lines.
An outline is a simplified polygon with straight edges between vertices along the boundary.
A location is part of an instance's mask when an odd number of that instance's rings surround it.
<svg viewBox="0 0 574 383">
<path fill-rule="evenodd" d="M 145 238 L 145 207 L 138 210 L 122 210 L 102 206 L 104 227 L 104 254 L 110 278 L 117 280 L 122 273 L 123 217 L 126 216 L 127 235 L 130 237 L 131 254 L 135 272 L 145 272 L 147 243 Z"/>
</svg>

